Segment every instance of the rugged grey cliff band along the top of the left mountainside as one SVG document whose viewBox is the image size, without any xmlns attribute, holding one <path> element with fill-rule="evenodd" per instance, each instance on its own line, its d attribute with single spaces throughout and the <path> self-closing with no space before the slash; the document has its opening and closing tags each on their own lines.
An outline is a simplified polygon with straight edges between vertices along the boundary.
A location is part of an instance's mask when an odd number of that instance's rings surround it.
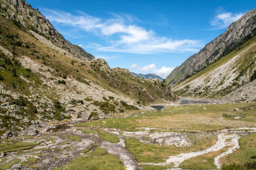
<svg viewBox="0 0 256 170">
<path fill-rule="evenodd" d="M 0 14 L 22 29 L 32 30 L 42 35 L 56 46 L 65 50 L 67 55 L 83 61 L 94 59 L 93 55 L 67 41 L 54 29 L 48 19 L 46 20 L 38 10 L 33 9 L 27 2 L 23 0 L 1 0 L 0 5 Z"/>
</svg>

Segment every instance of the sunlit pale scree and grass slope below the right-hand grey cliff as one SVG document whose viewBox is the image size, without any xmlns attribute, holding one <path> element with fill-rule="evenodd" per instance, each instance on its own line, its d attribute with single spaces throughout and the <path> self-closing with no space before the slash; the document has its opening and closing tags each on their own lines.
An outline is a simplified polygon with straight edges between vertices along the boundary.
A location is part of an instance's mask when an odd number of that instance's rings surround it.
<svg viewBox="0 0 256 170">
<path fill-rule="evenodd" d="M 180 96 L 256 102 L 256 37 L 197 74 L 176 83 Z"/>
</svg>

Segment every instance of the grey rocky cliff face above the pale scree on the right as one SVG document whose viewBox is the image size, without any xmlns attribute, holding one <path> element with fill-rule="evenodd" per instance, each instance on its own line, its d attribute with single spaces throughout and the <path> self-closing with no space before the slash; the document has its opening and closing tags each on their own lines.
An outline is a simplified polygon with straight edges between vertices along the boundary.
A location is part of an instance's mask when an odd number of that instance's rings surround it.
<svg viewBox="0 0 256 170">
<path fill-rule="evenodd" d="M 256 35 L 256 9 L 248 11 L 233 22 L 225 33 L 206 44 L 198 53 L 190 56 L 181 66 L 167 76 L 168 84 L 175 84 L 196 74 L 223 56 L 234 51 Z"/>
</svg>

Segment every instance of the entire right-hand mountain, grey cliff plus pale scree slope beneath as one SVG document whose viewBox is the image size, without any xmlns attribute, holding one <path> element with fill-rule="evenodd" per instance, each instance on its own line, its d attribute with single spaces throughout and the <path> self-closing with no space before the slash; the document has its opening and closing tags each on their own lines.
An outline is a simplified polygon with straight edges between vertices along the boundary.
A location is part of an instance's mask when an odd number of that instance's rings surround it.
<svg viewBox="0 0 256 170">
<path fill-rule="evenodd" d="M 211 51 L 207 51 L 210 45 L 221 47 L 220 44 L 222 44 L 223 47 L 230 49 L 227 55 L 223 53 L 226 48 L 223 48 L 222 52 L 216 53 L 220 59 L 211 62 L 207 67 L 205 67 L 205 62 L 200 60 L 196 63 L 195 69 L 202 69 L 184 80 L 181 79 L 181 75 L 184 74 L 185 68 L 183 71 L 180 70 L 179 75 L 168 80 L 171 84 L 182 80 L 182 82 L 171 85 L 175 94 L 194 98 L 220 99 L 226 102 L 256 102 L 255 12 L 254 9 L 243 15 L 237 22 L 232 23 L 223 35 L 207 44 L 198 54 L 192 55 L 180 66 L 180 68 L 187 66 L 188 62 L 191 65 L 195 64 L 196 60 L 199 60 L 199 56 L 204 58 L 203 54 L 209 54 L 210 59 L 206 60 L 211 60 L 211 56 L 214 56 L 215 52 L 211 54 Z M 219 45 L 215 44 L 214 42 L 220 38 L 224 39 L 219 41 Z M 232 47 L 230 39 L 234 42 Z M 194 72 L 193 70 L 194 68 L 190 67 L 187 72 Z M 172 75 L 174 75 L 173 72 Z"/>
</svg>

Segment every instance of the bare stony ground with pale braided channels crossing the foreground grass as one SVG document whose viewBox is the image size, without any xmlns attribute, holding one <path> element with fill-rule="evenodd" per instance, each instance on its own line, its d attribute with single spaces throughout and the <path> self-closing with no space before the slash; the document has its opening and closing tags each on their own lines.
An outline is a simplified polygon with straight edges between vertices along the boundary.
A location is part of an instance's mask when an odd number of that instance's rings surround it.
<svg viewBox="0 0 256 170">
<path fill-rule="evenodd" d="M 115 134 L 119 139 L 119 143 L 110 143 L 109 141 L 103 141 L 97 136 L 97 133 L 86 134 L 82 132 L 82 129 L 88 128 L 76 128 L 73 124 L 67 123 L 65 126 L 62 124 L 61 128 L 59 124 L 45 126 L 44 132 L 40 135 L 33 137 L 31 139 L 25 139 L 23 137 L 20 140 L 26 140 L 26 142 L 38 142 L 40 143 L 37 147 L 33 149 L 28 149 L 26 151 L 10 152 L 5 157 L 5 160 L 1 164 L 8 163 L 14 159 L 19 159 L 19 163 L 14 164 L 13 168 L 17 167 L 22 169 L 40 168 L 40 169 L 52 169 L 61 167 L 67 164 L 69 161 L 76 159 L 77 157 L 84 156 L 81 151 L 89 147 L 101 147 L 105 149 L 108 153 L 117 156 L 121 163 L 126 169 L 141 169 L 140 164 L 150 164 L 150 165 L 174 165 L 178 167 L 183 161 L 191 159 L 192 157 L 199 156 L 208 152 L 219 151 L 226 146 L 230 147 L 226 152 L 221 153 L 215 157 L 215 165 L 220 168 L 219 159 L 227 154 L 234 152 L 239 148 L 238 139 L 241 136 L 248 135 L 251 132 L 256 132 L 256 128 L 238 128 L 238 129 L 224 129 L 214 132 L 214 135 L 218 136 L 218 140 L 210 148 L 204 149 L 202 151 L 182 153 L 176 156 L 170 156 L 163 163 L 138 163 L 135 157 L 125 149 L 124 137 L 135 137 L 143 143 L 155 143 L 161 145 L 176 145 L 179 147 L 185 147 L 188 145 L 193 145 L 193 143 L 186 137 L 188 133 L 176 133 L 176 132 L 156 132 L 148 133 L 150 129 L 153 128 L 143 128 L 141 131 L 137 132 L 125 132 L 120 131 L 116 128 L 100 128 L 105 132 Z M 55 127 L 55 128 L 54 128 Z M 56 128 L 57 127 L 57 128 Z M 92 129 L 93 130 L 93 129 Z M 199 132 L 202 135 L 213 135 L 209 132 Z M 150 134 L 150 135 L 149 135 Z M 75 135 L 79 136 L 81 141 L 74 141 L 68 139 L 68 136 Z M 147 139 L 144 137 L 147 136 Z M 2 156 L 4 154 L 2 153 Z M 29 165 L 21 167 L 20 162 L 29 162 L 29 159 L 34 158 L 36 161 Z"/>
</svg>

